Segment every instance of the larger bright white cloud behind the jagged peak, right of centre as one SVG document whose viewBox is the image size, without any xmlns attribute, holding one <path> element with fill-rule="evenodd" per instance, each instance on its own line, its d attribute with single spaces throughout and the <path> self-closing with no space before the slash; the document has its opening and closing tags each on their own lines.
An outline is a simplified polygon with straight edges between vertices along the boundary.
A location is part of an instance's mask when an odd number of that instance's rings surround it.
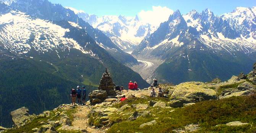
<svg viewBox="0 0 256 133">
<path fill-rule="evenodd" d="M 173 10 L 166 6 L 152 6 L 152 10 L 142 10 L 138 16 L 141 21 L 158 27 L 161 22 L 167 21 L 171 14 L 173 14 Z"/>
</svg>

